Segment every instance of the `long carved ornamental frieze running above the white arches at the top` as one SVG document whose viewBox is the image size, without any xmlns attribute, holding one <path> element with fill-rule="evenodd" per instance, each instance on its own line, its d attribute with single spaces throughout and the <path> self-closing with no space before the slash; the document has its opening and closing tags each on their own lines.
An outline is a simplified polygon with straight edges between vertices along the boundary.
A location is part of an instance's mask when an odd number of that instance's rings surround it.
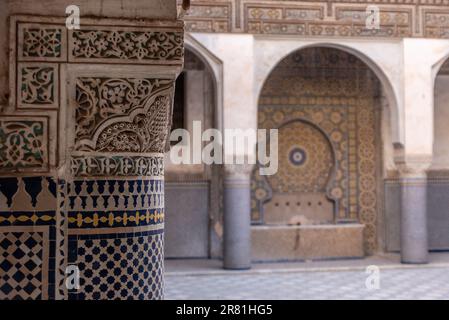
<svg viewBox="0 0 449 320">
<path fill-rule="evenodd" d="M 379 30 L 366 28 L 369 5 L 379 7 Z M 449 38 L 449 1 L 192 0 L 185 20 L 190 32 Z"/>
</svg>

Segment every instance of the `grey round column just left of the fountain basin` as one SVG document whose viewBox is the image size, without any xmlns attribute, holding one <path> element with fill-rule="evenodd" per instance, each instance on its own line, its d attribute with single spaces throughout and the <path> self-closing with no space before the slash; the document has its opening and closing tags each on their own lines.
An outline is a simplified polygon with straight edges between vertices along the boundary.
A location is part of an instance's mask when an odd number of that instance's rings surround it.
<svg viewBox="0 0 449 320">
<path fill-rule="evenodd" d="M 251 167 L 226 165 L 224 177 L 225 269 L 251 268 Z"/>
</svg>

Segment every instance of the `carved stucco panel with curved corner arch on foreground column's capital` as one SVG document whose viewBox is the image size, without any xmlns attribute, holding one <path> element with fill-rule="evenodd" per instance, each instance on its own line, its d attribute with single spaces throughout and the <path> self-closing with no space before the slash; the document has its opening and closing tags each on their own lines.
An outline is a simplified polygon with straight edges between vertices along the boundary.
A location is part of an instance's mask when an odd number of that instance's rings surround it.
<svg viewBox="0 0 449 320">
<path fill-rule="evenodd" d="M 78 78 L 75 150 L 163 153 L 174 80 Z"/>
</svg>

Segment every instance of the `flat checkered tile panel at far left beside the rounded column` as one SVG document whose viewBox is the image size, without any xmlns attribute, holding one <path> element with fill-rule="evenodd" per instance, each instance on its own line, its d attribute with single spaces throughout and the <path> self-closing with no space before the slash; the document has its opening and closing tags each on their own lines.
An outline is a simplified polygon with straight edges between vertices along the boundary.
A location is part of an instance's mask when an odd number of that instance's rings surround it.
<svg viewBox="0 0 449 320">
<path fill-rule="evenodd" d="M 52 178 L 0 178 L 0 299 L 55 299 L 64 278 L 64 217 Z"/>
</svg>

